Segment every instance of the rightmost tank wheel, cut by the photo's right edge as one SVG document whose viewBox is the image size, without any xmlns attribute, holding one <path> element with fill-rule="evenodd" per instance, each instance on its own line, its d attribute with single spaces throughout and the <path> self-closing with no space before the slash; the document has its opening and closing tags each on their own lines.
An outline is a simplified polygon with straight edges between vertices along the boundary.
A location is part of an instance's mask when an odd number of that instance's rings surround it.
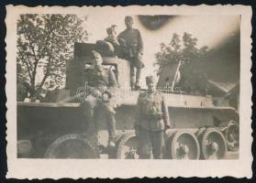
<svg viewBox="0 0 256 183">
<path fill-rule="evenodd" d="M 229 122 L 225 137 L 230 151 L 239 150 L 239 124 L 234 121 Z"/>
</svg>

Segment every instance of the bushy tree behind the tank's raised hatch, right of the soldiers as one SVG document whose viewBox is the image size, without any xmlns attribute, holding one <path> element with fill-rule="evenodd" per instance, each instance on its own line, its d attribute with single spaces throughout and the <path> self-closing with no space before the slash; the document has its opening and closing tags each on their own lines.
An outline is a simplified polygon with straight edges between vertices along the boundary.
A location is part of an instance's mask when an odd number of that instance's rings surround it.
<svg viewBox="0 0 256 183">
<path fill-rule="evenodd" d="M 161 43 L 161 50 L 155 54 L 155 65 L 159 66 L 157 72 L 160 74 L 161 68 L 181 61 L 182 80 L 179 87 L 185 92 L 202 92 L 206 89 L 206 73 L 199 68 L 207 51 L 206 46 L 198 48 L 197 38 L 194 38 L 192 34 L 184 32 L 181 39 L 178 34 L 174 33 L 170 43 Z"/>
</svg>

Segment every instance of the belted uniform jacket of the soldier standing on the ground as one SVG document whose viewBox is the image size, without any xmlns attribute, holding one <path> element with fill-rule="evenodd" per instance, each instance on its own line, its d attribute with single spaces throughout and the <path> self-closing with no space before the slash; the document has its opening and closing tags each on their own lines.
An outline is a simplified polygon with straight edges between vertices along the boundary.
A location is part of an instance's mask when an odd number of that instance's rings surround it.
<svg viewBox="0 0 256 183">
<path fill-rule="evenodd" d="M 170 127 L 168 108 L 161 92 L 139 94 L 135 115 L 136 125 L 153 132 Z"/>
</svg>

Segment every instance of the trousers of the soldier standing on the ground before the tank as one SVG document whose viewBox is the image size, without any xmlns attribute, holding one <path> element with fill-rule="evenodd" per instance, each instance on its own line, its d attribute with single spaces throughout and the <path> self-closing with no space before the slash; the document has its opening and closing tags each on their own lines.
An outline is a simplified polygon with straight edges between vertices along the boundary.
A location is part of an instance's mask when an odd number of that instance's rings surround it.
<svg viewBox="0 0 256 183">
<path fill-rule="evenodd" d="M 151 132 L 149 130 L 139 129 L 139 158 L 150 159 L 150 153 L 154 159 L 161 159 L 164 150 L 163 131 Z"/>
</svg>

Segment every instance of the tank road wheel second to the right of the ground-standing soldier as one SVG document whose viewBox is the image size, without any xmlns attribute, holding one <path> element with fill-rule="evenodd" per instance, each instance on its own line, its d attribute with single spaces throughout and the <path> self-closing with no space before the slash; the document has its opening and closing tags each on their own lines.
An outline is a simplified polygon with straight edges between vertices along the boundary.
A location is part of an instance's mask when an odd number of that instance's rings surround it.
<svg viewBox="0 0 256 183">
<path fill-rule="evenodd" d="M 222 159 L 227 152 L 227 145 L 224 135 L 214 127 L 199 130 L 197 133 L 201 145 L 201 158 Z"/>
</svg>

